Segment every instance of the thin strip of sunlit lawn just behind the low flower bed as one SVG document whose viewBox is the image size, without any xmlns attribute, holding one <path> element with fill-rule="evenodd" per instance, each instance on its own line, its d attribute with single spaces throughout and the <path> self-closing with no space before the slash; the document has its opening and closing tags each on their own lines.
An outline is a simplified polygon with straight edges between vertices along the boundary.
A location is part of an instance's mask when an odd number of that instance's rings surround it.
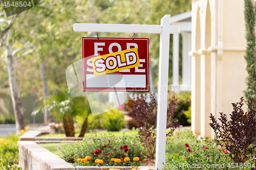
<svg viewBox="0 0 256 170">
<path fill-rule="evenodd" d="M 114 136 L 116 137 L 122 137 L 123 136 L 123 133 L 129 137 L 133 136 L 134 135 L 134 131 L 126 131 L 126 132 L 95 132 L 95 133 L 92 133 L 93 137 L 100 137 L 100 135 L 108 135 L 109 133 L 113 134 Z M 137 134 L 137 132 L 135 132 Z M 90 137 L 91 133 L 86 133 L 84 134 L 84 137 Z M 65 134 L 49 134 L 49 135 L 41 135 L 43 137 L 66 137 Z M 75 134 L 75 136 L 79 136 L 78 133 Z"/>
</svg>

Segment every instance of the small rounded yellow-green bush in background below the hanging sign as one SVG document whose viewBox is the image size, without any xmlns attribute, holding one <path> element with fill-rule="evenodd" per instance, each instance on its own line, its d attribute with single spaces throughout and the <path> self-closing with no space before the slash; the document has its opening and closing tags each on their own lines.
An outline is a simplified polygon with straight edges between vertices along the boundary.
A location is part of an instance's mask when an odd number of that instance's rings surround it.
<svg viewBox="0 0 256 170">
<path fill-rule="evenodd" d="M 102 125 L 104 127 L 104 129 L 108 130 L 108 131 L 120 131 L 121 129 L 124 128 L 124 124 L 123 124 L 123 119 L 124 119 L 124 115 L 123 115 L 123 111 L 119 111 L 116 108 L 103 113 L 103 122 Z"/>
</svg>

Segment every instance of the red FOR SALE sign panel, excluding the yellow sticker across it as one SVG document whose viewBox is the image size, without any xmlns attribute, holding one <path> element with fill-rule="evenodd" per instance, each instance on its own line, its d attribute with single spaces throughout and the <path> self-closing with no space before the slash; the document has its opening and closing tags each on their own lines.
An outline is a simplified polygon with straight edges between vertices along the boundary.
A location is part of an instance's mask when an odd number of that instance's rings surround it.
<svg viewBox="0 0 256 170">
<path fill-rule="evenodd" d="M 82 38 L 82 47 L 83 91 L 150 91 L 148 38 Z M 140 66 L 94 76 L 93 57 L 131 48 L 137 48 Z"/>
</svg>

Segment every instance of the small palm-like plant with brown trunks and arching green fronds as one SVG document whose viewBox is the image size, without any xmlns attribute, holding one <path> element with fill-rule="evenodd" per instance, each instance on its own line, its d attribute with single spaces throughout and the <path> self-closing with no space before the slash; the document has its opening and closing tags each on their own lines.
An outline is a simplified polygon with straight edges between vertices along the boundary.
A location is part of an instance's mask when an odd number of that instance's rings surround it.
<svg viewBox="0 0 256 170">
<path fill-rule="evenodd" d="M 42 100 L 42 98 L 39 100 Z M 91 113 L 91 109 L 84 97 L 74 97 L 69 94 L 68 89 L 56 88 L 53 95 L 47 98 L 46 104 L 36 108 L 32 114 L 44 112 L 45 109 L 49 110 L 57 120 L 62 121 L 66 136 L 75 136 L 73 118 L 79 114 L 86 115 L 79 137 L 83 137 L 86 133 L 87 117 Z"/>
</svg>

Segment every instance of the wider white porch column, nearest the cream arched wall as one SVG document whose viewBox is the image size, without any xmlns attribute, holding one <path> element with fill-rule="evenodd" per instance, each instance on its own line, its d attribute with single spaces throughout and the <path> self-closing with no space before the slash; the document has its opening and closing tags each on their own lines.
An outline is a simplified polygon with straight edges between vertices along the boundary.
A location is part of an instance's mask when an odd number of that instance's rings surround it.
<svg viewBox="0 0 256 170">
<path fill-rule="evenodd" d="M 182 35 L 182 91 L 191 91 L 191 33 L 183 32 Z"/>
</svg>

